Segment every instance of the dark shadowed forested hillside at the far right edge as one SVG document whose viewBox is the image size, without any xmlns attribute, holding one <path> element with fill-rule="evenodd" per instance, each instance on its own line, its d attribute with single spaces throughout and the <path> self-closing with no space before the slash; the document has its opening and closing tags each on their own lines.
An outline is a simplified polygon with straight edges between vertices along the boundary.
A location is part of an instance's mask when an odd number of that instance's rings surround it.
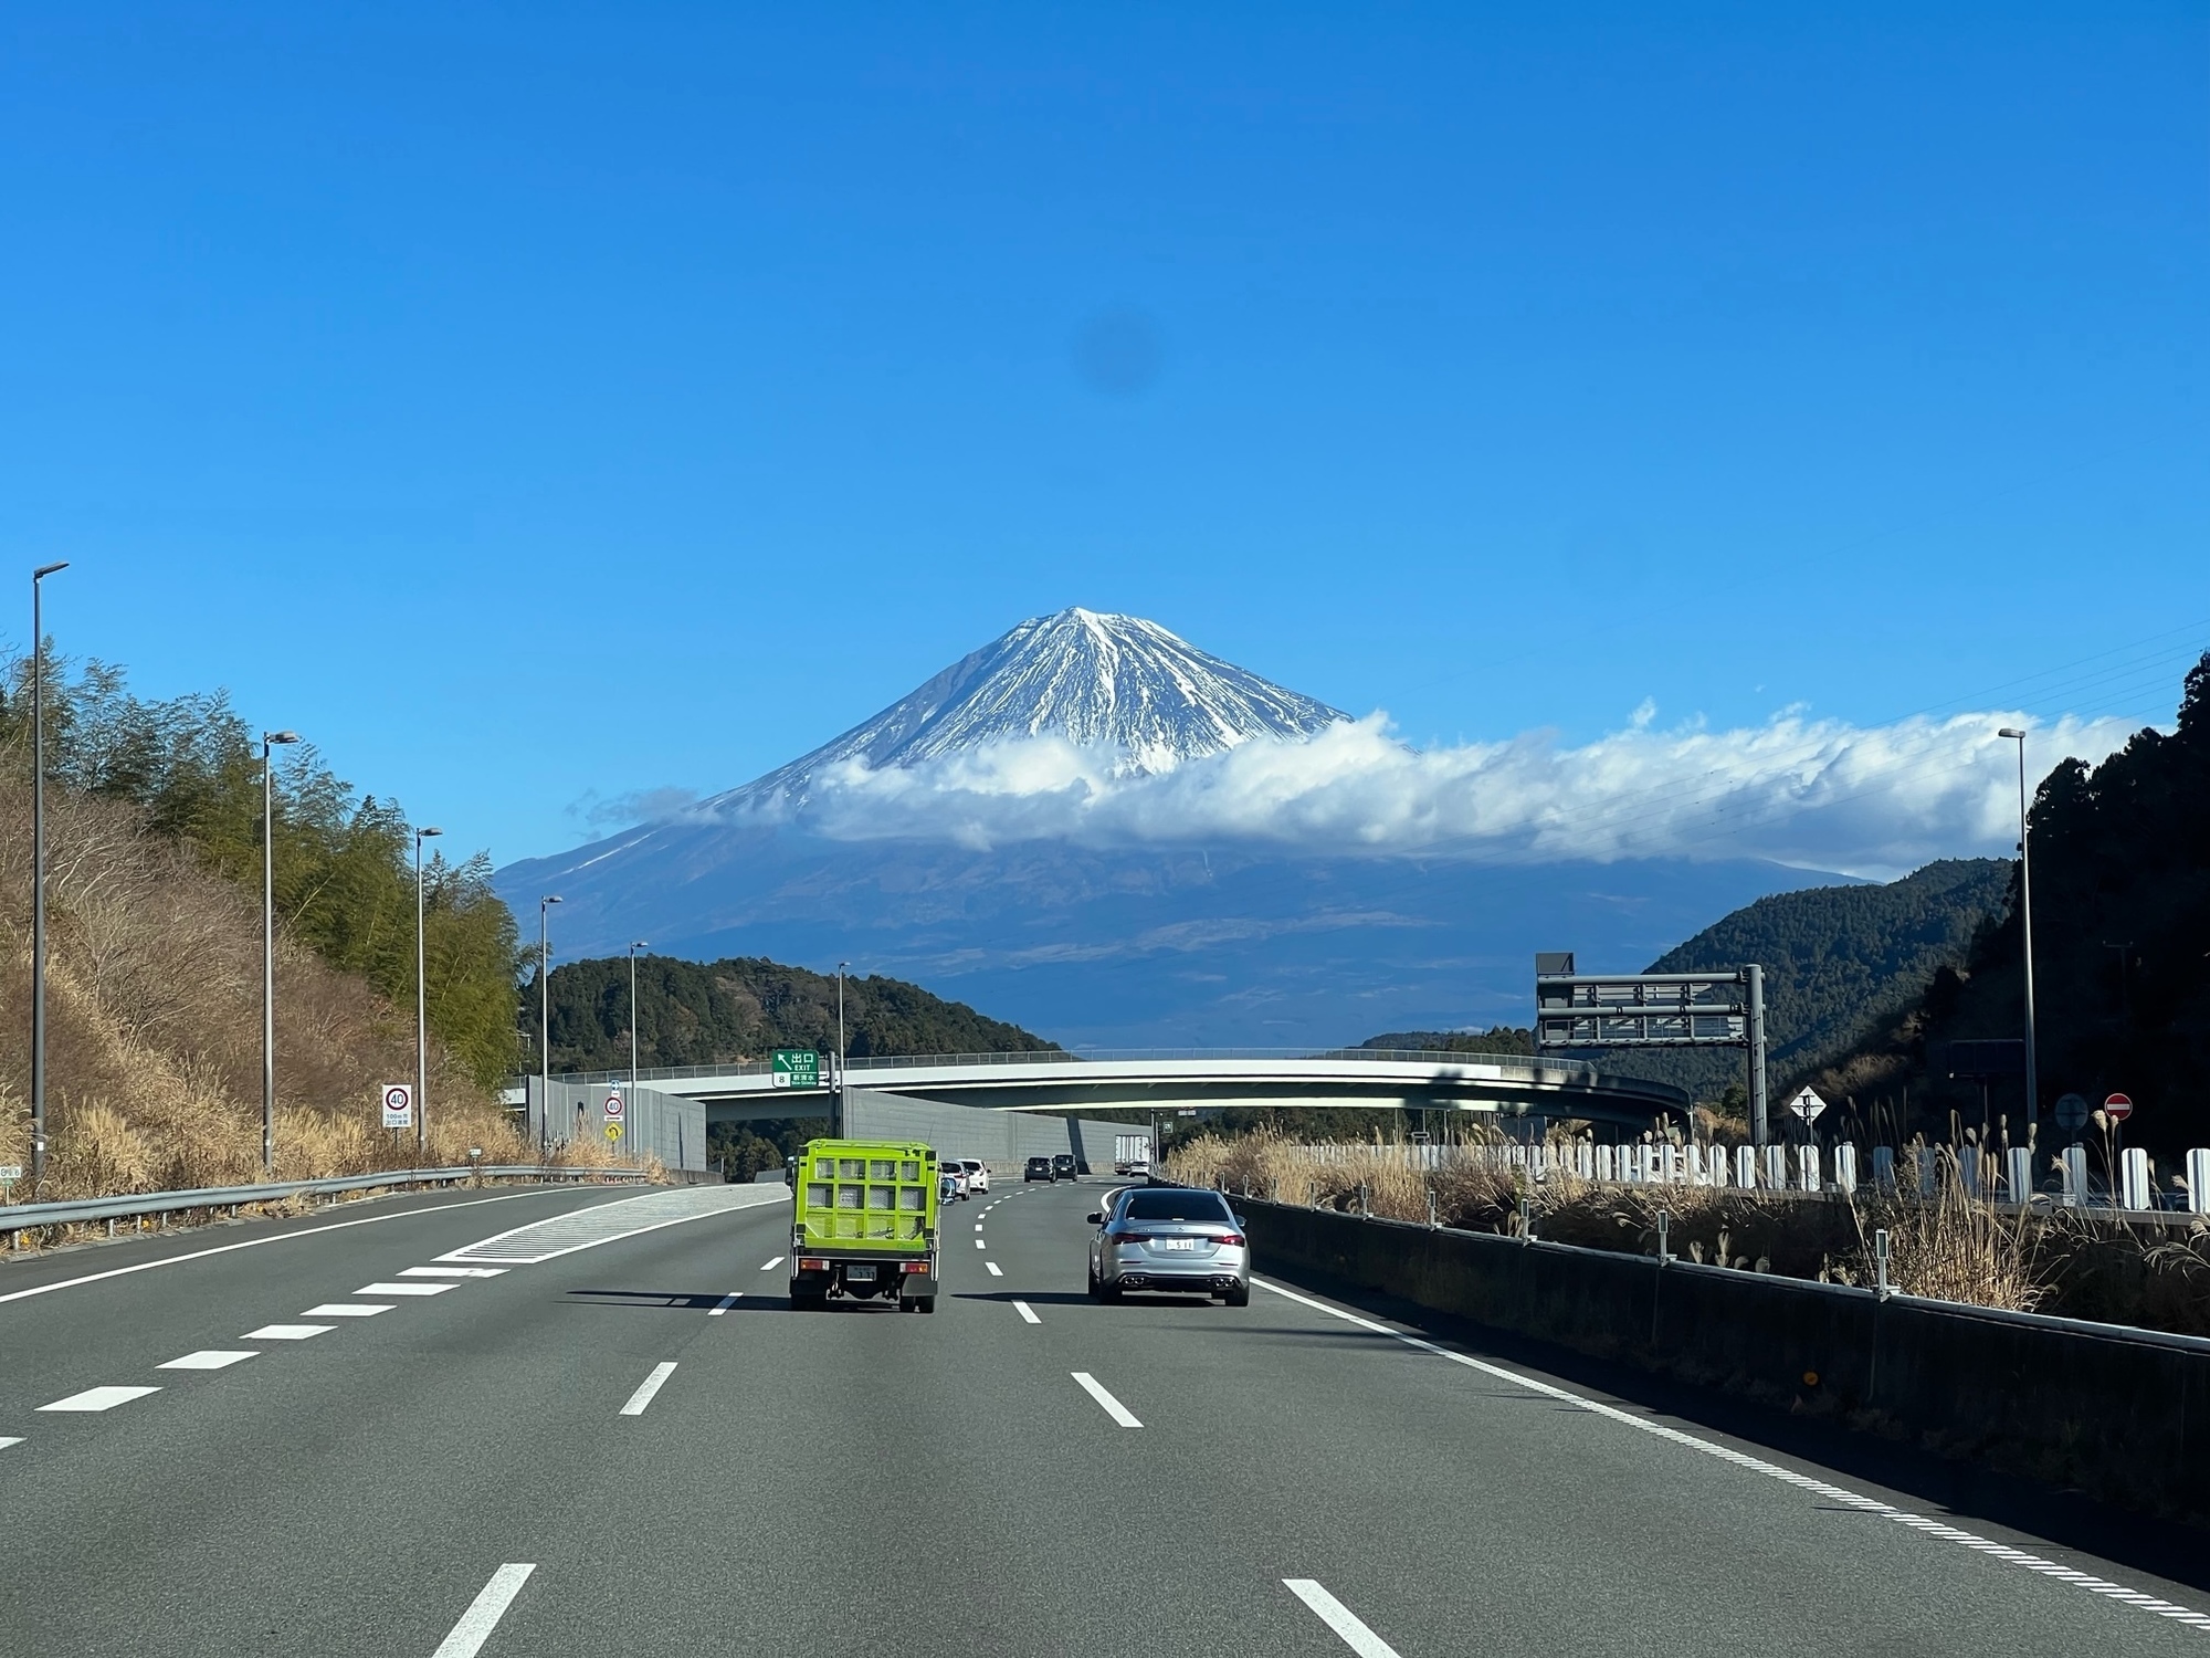
<svg viewBox="0 0 2210 1658">
<path fill-rule="evenodd" d="M 2033 979 L 2042 1127 L 2064 1092 L 2137 1101 L 2126 1138 L 2210 1145 L 2210 654 L 2188 674 L 2170 736 L 2139 732 L 2093 772 L 2064 760 L 2033 798 Z M 1978 1116 L 1945 1077 L 1947 1043 L 2022 1032 L 2022 926 L 2007 913 L 1962 970 L 1814 1085 L 1861 1108 Z M 2020 1114 L 2018 1083 L 1993 1110 Z"/>
</svg>

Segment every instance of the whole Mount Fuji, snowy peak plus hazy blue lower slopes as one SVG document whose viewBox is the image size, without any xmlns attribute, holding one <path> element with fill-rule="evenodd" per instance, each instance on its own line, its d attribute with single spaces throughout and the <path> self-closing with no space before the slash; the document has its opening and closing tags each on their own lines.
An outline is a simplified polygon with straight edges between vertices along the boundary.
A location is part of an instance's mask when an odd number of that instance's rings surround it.
<svg viewBox="0 0 2210 1658">
<path fill-rule="evenodd" d="M 1085 825 L 1357 732 L 1138 617 L 1034 617 L 811 754 L 659 822 L 508 864 L 559 955 L 648 937 L 919 979 L 1067 1046 L 1319 1046 L 1525 1021 L 1532 955 L 1640 968 L 1755 898 L 1761 860 L 1492 864 Z M 1070 831 L 1067 825 L 1083 825 Z M 1845 880 L 1845 878 L 1825 878 Z"/>
</svg>

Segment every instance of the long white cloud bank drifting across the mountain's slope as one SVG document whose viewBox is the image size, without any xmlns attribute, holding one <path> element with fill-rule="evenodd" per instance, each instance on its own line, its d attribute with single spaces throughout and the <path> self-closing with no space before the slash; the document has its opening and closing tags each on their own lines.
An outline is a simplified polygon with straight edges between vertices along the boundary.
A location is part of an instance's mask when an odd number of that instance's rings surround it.
<svg viewBox="0 0 2210 1658">
<path fill-rule="evenodd" d="M 1246 743 L 1162 776 L 1116 776 L 1114 754 L 1059 738 L 999 743 L 924 765 L 844 763 L 804 802 L 743 809 L 835 840 L 926 838 L 970 847 L 1275 844 L 1306 853 L 1567 858 L 1770 858 L 1894 875 L 1932 858 L 2009 856 L 2018 840 L 2016 745 L 2029 780 L 2060 758 L 2095 763 L 2122 721 L 1958 714 L 1854 727 L 1783 712 L 1766 725 L 1653 730 L 1649 712 L 1585 747 L 1547 734 L 1417 752 L 1388 718 L 1306 743 Z M 694 814 L 670 814 L 692 816 Z"/>
</svg>

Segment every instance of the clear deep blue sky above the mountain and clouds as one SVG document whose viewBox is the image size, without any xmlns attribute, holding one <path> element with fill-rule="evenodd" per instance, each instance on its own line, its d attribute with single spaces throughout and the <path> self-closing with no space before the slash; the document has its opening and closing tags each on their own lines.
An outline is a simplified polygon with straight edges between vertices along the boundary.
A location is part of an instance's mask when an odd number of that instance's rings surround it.
<svg viewBox="0 0 2210 1658">
<path fill-rule="evenodd" d="M 1419 743 L 2210 643 L 2199 4 L 0 29 L 60 646 L 499 862 L 1065 604 Z"/>
</svg>

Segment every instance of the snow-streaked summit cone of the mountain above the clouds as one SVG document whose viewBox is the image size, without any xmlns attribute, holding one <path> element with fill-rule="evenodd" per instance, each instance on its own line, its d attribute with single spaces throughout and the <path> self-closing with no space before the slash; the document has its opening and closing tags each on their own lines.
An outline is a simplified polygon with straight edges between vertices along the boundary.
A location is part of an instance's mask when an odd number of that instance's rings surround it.
<svg viewBox="0 0 2210 1658">
<path fill-rule="evenodd" d="M 1297 741 L 1348 714 L 1209 657 L 1156 621 L 1070 606 L 1030 617 L 822 747 L 705 802 L 707 814 L 802 802 L 827 767 L 935 760 L 959 749 L 1059 736 L 1158 774 L 1251 743 Z"/>
</svg>

